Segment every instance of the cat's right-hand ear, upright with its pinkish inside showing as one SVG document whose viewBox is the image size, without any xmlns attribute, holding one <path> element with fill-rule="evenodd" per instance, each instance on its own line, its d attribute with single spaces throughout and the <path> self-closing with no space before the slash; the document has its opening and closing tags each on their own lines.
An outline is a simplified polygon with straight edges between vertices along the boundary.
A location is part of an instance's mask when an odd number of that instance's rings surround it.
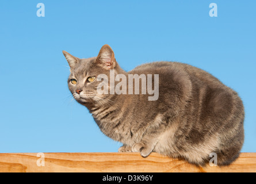
<svg viewBox="0 0 256 184">
<path fill-rule="evenodd" d="M 116 59 L 114 59 L 114 52 L 109 45 L 103 45 L 95 60 L 100 66 L 110 70 L 116 67 Z"/>
</svg>

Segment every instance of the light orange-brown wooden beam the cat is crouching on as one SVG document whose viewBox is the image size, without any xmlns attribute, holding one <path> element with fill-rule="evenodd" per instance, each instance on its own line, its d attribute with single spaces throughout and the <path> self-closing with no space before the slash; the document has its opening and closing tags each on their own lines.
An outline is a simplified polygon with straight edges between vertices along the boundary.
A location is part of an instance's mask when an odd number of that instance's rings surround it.
<svg viewBox="0 0 256 184">
<path fill-rule="evenodd" d="M 44 153 L 45 166 L 37 166 L 37 153 L 0 154 L 0 172 L 256 172 L 256 153 L 242 153 L 226 167 L 197 167 L 184 160 L 152 153 Z"/>
</svg>

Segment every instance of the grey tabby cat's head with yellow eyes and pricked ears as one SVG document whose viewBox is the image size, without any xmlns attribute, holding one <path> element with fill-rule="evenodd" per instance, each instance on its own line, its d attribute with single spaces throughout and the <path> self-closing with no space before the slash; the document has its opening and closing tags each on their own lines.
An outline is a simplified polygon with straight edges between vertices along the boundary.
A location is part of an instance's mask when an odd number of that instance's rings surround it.
<svg viewBox="0 0 256 184">
<path fill-rule="evenodd" d="M 97 76 L 105 74 L 109 77 L 109 70 L 121 70 L 114 58 L 114 52 L 109 45 L 104 45 L 97 57 L 79 59 L 63 51 L 70 66 L 68 88 L 73 97 L 80 103 L 101 102 L 108 99 L 104 94 L 97 93 Z"/>
</svg>

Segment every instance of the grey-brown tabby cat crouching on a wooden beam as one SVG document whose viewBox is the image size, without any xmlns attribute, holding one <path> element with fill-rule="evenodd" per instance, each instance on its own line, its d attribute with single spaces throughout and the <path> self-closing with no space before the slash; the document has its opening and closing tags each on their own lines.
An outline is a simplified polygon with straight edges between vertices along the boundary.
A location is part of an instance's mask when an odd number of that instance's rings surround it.
<svg viewBox="0 0 256 184">
<path fill-rule="evenodd" d="M 68 88 L 86 106 L 100 130 L 123 146 L 119 152 L 151 152 L 204 166 L 238 158 L 244 141 L 244 108 L 238 93 L 208 72 L 178 62 L 153 62 L 124 71 L 109 45 L 97 57 L 79 59 L 63 51 L 70 66 Z M 149 94 L 99 94 L 100 74 L 158 74 L 159 97 Z M 115 83 L 116 84 L 116 83 Z M 109 85 L 109 84 L 108 84 Z"/>
</svg>

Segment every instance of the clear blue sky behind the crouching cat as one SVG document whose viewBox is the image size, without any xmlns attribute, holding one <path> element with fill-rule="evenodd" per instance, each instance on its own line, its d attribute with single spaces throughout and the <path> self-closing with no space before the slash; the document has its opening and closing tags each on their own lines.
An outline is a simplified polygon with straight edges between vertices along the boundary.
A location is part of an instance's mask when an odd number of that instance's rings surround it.
<svg viewBox="0 0 256 184">
<path fill-rule="evenodd" d="M 209 4 L 217 4 L 217 17 Z M 44 3 L 45 17 L 37 17 Z M 242 152 L 256 152 L 255 1 L 0 1 L 0 152 L 116 152 L 72 99 L 62 50 L 112 47 L 124 70 L 156 60 L 192 64 L 238 91 Z"/>
</svg>

